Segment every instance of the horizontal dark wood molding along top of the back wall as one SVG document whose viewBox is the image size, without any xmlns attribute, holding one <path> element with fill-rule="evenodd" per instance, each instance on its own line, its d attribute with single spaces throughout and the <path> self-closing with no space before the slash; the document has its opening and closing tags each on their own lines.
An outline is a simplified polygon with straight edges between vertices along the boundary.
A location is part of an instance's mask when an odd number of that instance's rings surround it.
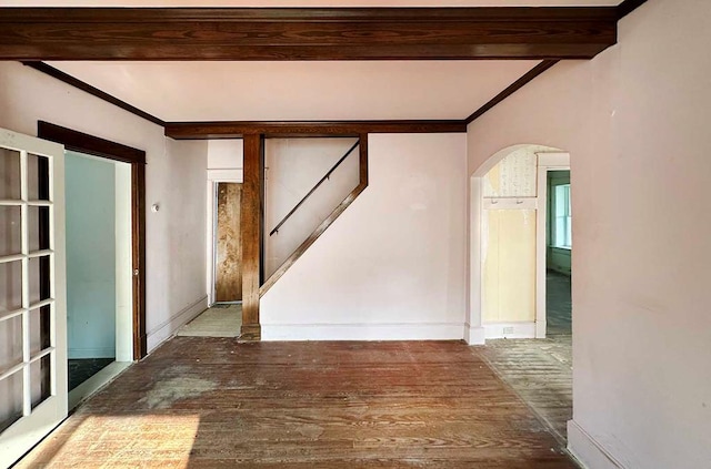
<svg viewBox="0 0 711 469">
<path fill-rule="evenodd" d="M 367 133 L 463 133 L 464 121 L 287 121 L 287 122 L 167 122 L 166 136 L 176 140 L 267 136 L 328 136 Z"/>
</svg>

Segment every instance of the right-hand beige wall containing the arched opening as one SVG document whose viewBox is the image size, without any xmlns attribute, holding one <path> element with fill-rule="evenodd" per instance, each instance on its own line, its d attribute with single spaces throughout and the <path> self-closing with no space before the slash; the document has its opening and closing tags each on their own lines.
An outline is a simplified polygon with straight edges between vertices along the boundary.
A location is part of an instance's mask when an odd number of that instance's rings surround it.
<svg viewBox="0 0 711 469">
<path fill-rule="evenodd" d="M 469 126 L 470 174 L 513 144 L 571 154 L 569 437 L 591 468 L 711 461 L 709 18 L 707 0 L 650 0 L 617 47 L 555 65 Z"/>
</svg>

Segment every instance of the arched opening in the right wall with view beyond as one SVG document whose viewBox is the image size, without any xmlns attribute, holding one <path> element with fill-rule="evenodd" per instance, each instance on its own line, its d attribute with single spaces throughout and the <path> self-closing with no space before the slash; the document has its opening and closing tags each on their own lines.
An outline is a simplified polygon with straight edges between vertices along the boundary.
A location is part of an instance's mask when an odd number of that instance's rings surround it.
<svg viewBox="0 0 711 469">
<path fill-rule="evenodd" d="M 572 418 L 570 156 L 511 146 L 470 184 L 468 339 L 485 343 L 492 367 L 564 440 Z"/>
</svg>

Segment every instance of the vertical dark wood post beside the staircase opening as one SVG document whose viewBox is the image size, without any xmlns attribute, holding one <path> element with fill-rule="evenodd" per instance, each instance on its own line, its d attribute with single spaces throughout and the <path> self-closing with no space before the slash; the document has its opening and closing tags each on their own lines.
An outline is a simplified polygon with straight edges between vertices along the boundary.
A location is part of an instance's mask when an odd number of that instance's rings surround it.
<svg viewBox="0 0 711 469">
<path fill-rule="evenodd" d="M 261 338 L 259 287 L 262 244 L 262 136 L 244 135 L 244 162 L 240 230 L 242 232 L 242 329 L 240 339 Z"/>
</svg>

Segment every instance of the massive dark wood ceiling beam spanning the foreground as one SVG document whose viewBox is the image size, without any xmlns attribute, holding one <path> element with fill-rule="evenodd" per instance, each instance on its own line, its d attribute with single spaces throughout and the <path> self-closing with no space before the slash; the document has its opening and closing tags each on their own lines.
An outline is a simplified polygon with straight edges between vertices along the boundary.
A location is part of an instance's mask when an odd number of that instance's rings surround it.
<svg viewBox="0 0 711 469">
<path fill-rule="evenodd" d="M 0 60 L 590 59 L 618 9 L 2 8 Z"/>
</svg>

